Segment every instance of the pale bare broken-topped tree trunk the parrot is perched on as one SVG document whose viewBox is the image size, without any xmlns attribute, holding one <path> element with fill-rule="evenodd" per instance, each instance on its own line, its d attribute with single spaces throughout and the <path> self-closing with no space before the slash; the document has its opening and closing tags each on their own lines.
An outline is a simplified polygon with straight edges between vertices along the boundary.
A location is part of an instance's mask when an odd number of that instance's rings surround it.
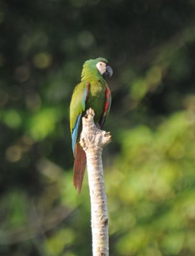
<svg viewBox="0 0 195 256">
<path fill-rule="evenodd" d="M 109 255 L 107 196 L 104 188 L 102 150 L 111 142 L 109 132 L 100 130 L 93 122 L 93 109 L 82 118 L 80 143 L 86 152 L 91 198 L 91 231 L 93 256 Z"/>
</svg>

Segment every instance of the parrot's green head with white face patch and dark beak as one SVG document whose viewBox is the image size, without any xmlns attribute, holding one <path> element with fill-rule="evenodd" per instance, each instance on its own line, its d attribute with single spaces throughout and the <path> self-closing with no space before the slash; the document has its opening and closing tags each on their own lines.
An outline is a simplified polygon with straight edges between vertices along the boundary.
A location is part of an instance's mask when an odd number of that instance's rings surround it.
<svg viewBox="0 0 195 256">
<path fill-rule="evenodd" d="M 82 69 L 82 79 L 93 78 L 94 76 L 111 77 L 113 76 L 113 69 L 108 65 L 108 61 L 104 58 L 97 58 L 95 60 L 85 61 Z"/>
</svg>

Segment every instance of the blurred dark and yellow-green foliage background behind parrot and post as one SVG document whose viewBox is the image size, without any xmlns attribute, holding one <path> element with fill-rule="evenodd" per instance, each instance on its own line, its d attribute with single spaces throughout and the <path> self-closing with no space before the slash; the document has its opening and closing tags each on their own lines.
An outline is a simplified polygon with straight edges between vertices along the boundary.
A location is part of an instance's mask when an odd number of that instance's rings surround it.
<svg viewBox="0 0 195 256">
<path fill-rule="evenodd" d="M 1 255 L 91 255 L 69 104 L 98 56 L 114 70 L 110 255 L 195 255 L 194 24 L 194 0 L 1 0 Z"/>
</svg>

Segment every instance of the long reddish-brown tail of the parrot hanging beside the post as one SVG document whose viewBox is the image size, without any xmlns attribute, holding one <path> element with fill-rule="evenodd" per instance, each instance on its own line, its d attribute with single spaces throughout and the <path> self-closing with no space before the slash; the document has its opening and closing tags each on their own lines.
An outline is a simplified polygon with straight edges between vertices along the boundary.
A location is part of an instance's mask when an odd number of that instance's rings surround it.
<svg viewBox="0 0 195 256">
<path fill-rule="evenodd" d="M 75 145 L 75 161 L 74 161 L 74 187 L 81 193 L 82 180 L 86 168 L 86 154 L 79 143 Z"/>
</svg>

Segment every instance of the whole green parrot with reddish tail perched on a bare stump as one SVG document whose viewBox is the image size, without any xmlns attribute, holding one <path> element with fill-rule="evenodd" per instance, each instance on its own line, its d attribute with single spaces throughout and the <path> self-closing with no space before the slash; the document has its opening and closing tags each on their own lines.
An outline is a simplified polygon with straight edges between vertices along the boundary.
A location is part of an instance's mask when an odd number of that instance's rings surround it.
<svg viewBox="0 0 195 256">
<path fill-rule="evenodd" d="M 85 61 L 81 83 L 75 86 L 70 102 L 70 131 L 72 136 L 72 150 L 74 153 L 74 187 L 81 193 L 82 179 L 86 168 L 86 153 L 79 144 L 82 131 L 82 116 L 86 110 L 92 108 L 95 111 L 94 122 L 100 128 L 111 107 L 111 92 L 105 77 L 113 75 L 112 68 L 104 58 Z"/>
</svg>

